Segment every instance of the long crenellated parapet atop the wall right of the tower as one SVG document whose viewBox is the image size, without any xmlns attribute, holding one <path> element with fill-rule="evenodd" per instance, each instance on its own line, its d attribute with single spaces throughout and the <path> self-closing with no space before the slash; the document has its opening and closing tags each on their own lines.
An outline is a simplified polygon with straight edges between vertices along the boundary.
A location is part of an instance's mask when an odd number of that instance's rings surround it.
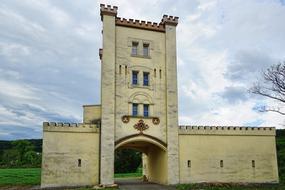
<svg viewBox="0 0 285 190">
<path fill-rule="evenodd" d="M 275 136 L 275 127 L 179 126 L 179 135 Z"/>
</svg>

